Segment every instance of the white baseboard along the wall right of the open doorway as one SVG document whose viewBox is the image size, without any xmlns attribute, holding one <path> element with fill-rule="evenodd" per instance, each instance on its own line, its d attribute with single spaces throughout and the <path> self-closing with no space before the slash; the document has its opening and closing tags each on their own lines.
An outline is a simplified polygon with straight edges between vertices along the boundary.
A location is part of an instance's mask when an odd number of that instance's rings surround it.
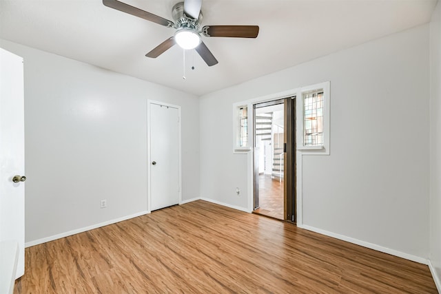
<svg viewBox="0 0 441 294">
<path fill-rule="evenodd" d="M 416 255 L 411 255 L 411 254 L 404 253 L 404 252 L 401 252 L 401 251 L 396 251 L 396 250 L 389 249 L 387 247 L 383 247 L 383 246 L 380 246 L 380 245 L 377 245 L 377 244 L 373 244 L 373 243 L 365 242 L 365 241 L 358 240 L 358 239 L 355 239 L 355 238 L 347 237 L 345 235 L 340 235 L 338 233 L 332 233 L 332 232 L 325 231 L 325 230 L 322 230 L 322 229 L 317 229 L 315 227 L 310 227 L 310 226 L 305 225 L 305 224 L 297 224 L 297 227 L 299 227 L 300 229 L 306 229 L 308 231 L 314 231 L 316 233 L 320 233 L 322 235 L 327 235 L 329 237 L 336 238 L 336 239 L 339 239 L 339 240 L 343 240 L 343 241 L 346 241 L 346 242 L 349 242 L 349 243 L 357 244 L 357 245 L 360 245 L 360 246 L 363 246 L 363 247 L 366 247 L 366 248 L 369 248 L 369 249 L 373 249 L 373 250 L 380 251 L 380 252 L 383 252 L 383 253 L 387 253 L 387 254 L 390 254 L 390 255 L 395 255 L 395 256 L 398 256 L 398 258 L 404 258 L 406 260 L 411 260 L 413 262 L 418 262 L 420 264 L 429 264 L 429 260 L 427 260 L 425 258 L 420 258 L 419 256 L 416 256 Z"/>
</svg>

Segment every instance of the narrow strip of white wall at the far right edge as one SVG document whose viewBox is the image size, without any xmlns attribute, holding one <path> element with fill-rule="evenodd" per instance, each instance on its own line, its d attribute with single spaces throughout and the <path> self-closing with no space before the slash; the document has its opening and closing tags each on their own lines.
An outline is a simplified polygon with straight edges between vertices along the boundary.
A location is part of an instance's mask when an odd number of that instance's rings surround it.
<svg viewBox="0 0 441 294">
<path fill-rule="evenodd" d="M 430 24 L 431 101 L 430 101 L 430 262 L 441 292 L 441 2 Z"/>
</svg>

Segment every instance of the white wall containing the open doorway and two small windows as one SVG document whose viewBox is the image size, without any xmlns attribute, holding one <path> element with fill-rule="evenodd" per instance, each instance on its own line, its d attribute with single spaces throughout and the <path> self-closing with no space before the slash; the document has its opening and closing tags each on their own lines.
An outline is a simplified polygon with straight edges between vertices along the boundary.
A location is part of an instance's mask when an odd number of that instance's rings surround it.
<svg viewBox="0 0 441 294">
<path fill-rule="evenodd" d="M 251 158 L 232 154 L 232 103 L 325 81 L 331 154 L 303 156 L 303 224 L 428 258 L 428 25 L 201 97 L 201 197 L 249 204 Z"/>
</svg>

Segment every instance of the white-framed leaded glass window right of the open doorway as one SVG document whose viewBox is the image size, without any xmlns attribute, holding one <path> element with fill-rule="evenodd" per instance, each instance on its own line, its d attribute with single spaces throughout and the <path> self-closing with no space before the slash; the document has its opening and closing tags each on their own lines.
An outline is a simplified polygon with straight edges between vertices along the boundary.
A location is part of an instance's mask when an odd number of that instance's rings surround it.
<svg viewBox="0 0 441 294">
<path fill-rule="evenodd" d="M 329 88 L 326 82 L 299 90 L 297 149 L 302 154 L 329 155 Z"/>
</svg>

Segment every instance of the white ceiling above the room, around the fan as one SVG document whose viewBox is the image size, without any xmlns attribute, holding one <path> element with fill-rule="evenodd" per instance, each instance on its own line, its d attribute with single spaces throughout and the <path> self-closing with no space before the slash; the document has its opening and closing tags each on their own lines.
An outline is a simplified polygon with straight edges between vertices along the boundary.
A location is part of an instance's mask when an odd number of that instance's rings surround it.
<svg viewBox="0 0 441 294">
<path fill-rule="evenodd" d="M 179 0 L 122 0 L 172 20 Z M 206 38 L 219 63 L 174 46 L 172 28 L 101 0 L 0 0 L 0 38 L 198 96 L 428 23 L 437 0 L 205 0 L 203 25 L 259 25 L 257 39 Z M 190 67 L 194 65 L 195 70 Z"/>
</svg>

